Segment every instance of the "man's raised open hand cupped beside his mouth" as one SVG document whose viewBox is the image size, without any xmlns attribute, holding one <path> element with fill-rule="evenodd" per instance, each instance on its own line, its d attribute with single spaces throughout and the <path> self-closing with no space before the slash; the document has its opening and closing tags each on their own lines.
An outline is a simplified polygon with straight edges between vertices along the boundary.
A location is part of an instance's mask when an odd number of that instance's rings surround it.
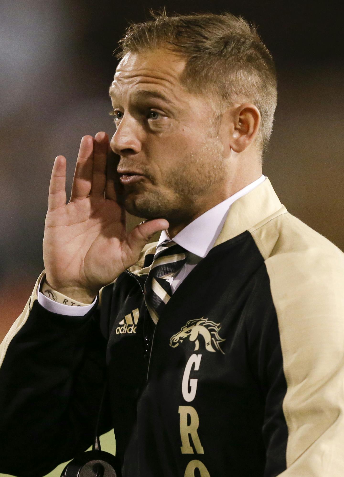
<svg viewBox="0 0 344 477">
<path fill-rule="evenodd" d="M 84 303 L 134 264 L 154 233 L 169 225 L 154 219 L 127 235 L 125 210 L 117 200 L 116 158 L 106 133 L 84 136 L 68 204 L 63 156 L 56 157 L 51 173 L 43 239 L 46 279 L 55 290 Z"/>
</svg>

